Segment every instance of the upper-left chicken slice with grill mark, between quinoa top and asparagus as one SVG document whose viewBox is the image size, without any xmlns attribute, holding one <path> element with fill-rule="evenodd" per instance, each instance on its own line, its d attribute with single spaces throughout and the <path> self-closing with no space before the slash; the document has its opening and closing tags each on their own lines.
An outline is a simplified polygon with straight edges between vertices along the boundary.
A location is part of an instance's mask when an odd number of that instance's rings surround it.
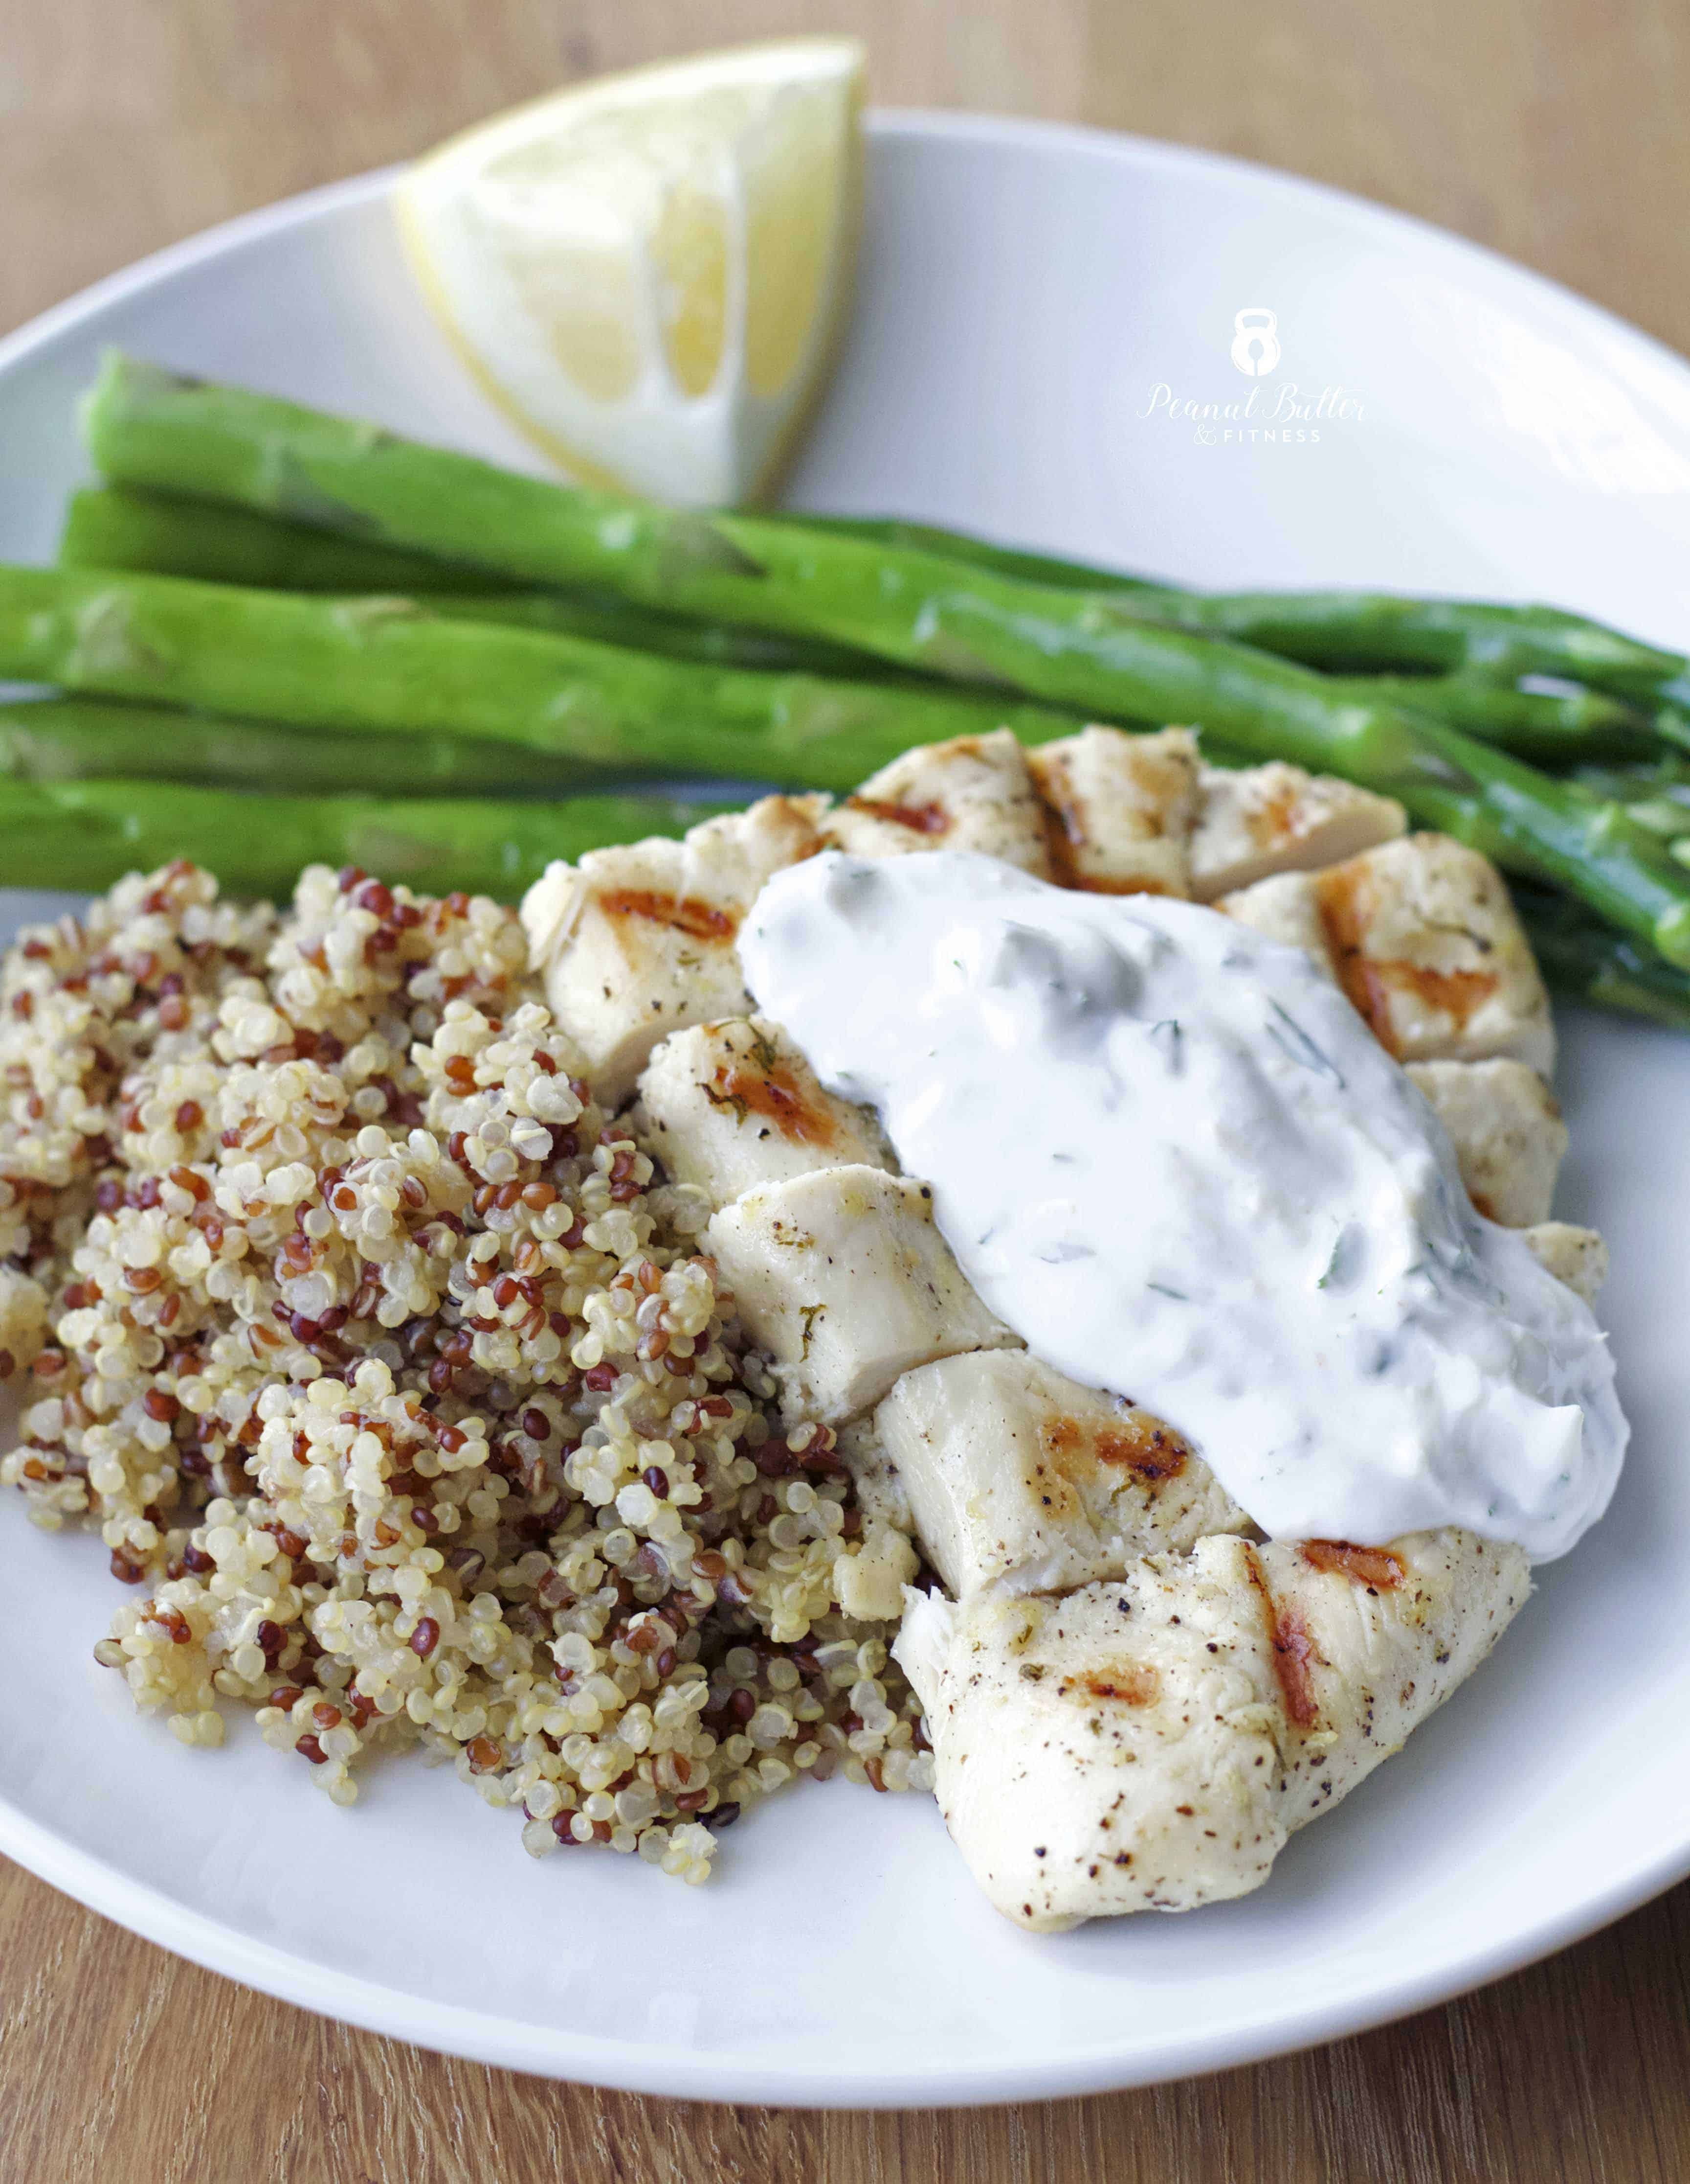
<svg viewBox="0 0 1690 2184">
<path fill-rule="evenodd" d="M 749 1016 L 734 939 L 764 880 L 821 847 L 825 797 L 764 797 L 681 841 L 590 850 L 522 898 L 528 959 L 594 1094 L 620 1105 L 681 1024 Z"/>
</svg>

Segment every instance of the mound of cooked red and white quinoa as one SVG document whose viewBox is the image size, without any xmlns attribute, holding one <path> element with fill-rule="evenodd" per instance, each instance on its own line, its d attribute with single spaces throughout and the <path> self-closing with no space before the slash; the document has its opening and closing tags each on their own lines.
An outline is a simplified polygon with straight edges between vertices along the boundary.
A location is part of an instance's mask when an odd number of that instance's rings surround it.
<svg viewBox="0 0 1690 2184">
<path fill-rule="evenodd" d="M 930 1784 L 908 1542 L 779 1428 L 515 913 L 170 865 L 11 948 L 0 1072 L 0 1481 L 98 1527 L 96 1658 L 186 1745 L 249 1706 L 336 1804 L 421 1747 L 686 1880 L 797 1773 Z"/>
</svg>

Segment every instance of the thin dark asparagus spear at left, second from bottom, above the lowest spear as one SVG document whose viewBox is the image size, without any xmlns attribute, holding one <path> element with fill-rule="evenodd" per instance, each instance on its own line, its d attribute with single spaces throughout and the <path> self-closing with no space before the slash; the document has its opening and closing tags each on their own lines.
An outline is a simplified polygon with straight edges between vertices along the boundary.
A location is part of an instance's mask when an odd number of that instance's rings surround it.
<svg viewBox="0 0 1690 2184">
<path fill-rule="evenodd" d="M 0 705 L 0 775 L 22 782 L 203 782 L 290 795 L 541 795 L 605 786 L 603 773 L 546 751 L 454 736 L 345 736 L 231 721 L 166 705 L 41 697 Z"/>
</svg>

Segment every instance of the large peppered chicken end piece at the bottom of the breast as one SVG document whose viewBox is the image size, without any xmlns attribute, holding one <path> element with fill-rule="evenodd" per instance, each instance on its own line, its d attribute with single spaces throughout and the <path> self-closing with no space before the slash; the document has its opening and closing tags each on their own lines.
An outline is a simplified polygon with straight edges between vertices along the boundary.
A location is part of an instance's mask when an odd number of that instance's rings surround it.
<svg viewBox="0 0 1690 2184">
<path fill-rule="evenodd" d="M 1061 1599 L 911 1594 L 895 1645 L 945 1826 L 1022 1926 L 1190 1911 L 1266 1878 L 1489 1653 L 1526 1557 L 1199 1540 Z"/>
</svg>

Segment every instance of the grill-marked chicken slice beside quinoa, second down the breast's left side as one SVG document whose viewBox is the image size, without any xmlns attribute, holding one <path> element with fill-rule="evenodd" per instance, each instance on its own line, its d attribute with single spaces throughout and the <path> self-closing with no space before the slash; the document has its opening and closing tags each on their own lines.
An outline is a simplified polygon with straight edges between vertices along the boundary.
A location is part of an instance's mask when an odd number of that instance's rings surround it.
<svg viewBox="0 0 1690 2184">
<path fill-rule="evenodd" d="M 725 1206 L 814 1168 L 893 1168 L 867 1107 L 823 1092 L 779 1024 L 760 1016 L 664 1040 L 640 1077 L 633 1127 L 677 1184 Z"/>
</svg>

